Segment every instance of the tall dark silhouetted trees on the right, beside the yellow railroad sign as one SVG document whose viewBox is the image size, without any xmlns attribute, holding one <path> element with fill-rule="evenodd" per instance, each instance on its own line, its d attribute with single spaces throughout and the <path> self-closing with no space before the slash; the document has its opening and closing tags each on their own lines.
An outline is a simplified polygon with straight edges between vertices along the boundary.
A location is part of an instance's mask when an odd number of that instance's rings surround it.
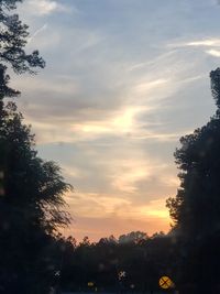
<svg viewBox="0 0 220 294">
<path fill-rule="evenodd" d="M 216 115 L 180 139 L 182 148 L 175 152 L 180 187 L 167 200 L 182 249 L 179 280 L 197 286 L 194 293 L 218 292 L 220 274 L 220 68 L 210 78 Z M 207 279 L 209 283 L 201 283 Z"/>
</svg>

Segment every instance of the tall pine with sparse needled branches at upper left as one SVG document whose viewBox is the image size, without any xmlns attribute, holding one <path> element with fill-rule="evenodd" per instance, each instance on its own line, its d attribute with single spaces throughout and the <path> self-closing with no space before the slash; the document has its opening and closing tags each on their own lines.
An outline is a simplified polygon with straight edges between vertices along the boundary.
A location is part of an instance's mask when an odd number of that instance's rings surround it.
<svg viewBox="0 0 220 294">
<path fill-rule="evenodd" d="M 22 0 L 0 0 L 0 126 L 3 116 L 3 98 L 16 97 L 20 94 L 8 87 L 10 77 L 6 74 L 7 66 L 11 66 L 16 74 L 26 72 L 34 74 L 34 68 L 45 66 L 45 62 L 40 57 L 37 51 L 31 54 L 24 51 L 29 37 L 28 25 L 20 21 L 16 13 L 13 13 L 19 2 Z M 4 151 L 6 146 L 0 133 L 0 194 L 3 190 L 2 175 L 6 170 L 3 165 Z"/>
</svg>

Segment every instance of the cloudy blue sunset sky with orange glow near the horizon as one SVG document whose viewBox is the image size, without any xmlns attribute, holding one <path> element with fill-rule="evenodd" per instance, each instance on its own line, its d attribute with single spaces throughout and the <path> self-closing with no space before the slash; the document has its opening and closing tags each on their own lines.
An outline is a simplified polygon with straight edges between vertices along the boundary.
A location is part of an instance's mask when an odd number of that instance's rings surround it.
<svg viewBox="0 0 220 294">
<path fill-rule="evenodd" d="M 63 233 L 77 240 L 167 232 L 179 138 L 215 112 L 209 73 L 219 66 L 217 0 L 24 0 L 26 51 L 46 68 L 13 76 L 38 155 L 74 190 Z"/>
</svg>

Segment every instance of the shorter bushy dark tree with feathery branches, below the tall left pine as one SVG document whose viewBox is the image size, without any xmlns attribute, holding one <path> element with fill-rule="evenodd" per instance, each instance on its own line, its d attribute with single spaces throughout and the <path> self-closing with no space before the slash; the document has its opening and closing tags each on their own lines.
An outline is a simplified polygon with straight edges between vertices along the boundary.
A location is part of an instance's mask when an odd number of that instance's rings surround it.
<svg viewBox="0 0 220 294">
<path fill-rule="evenodd" d="M 7 168 L 0 197 L 0 285 L 6 293 L 44 293 L 41 285 L 48 286 L 48 281 L 42 276 L 45 269 L 40 260 L 51 236 L 69 221 L 63 195 L 72 187 L 55 163 L 37 157 L 34 135 L 15 105 L 9 102 L 3 110 Z"/>
</svg>

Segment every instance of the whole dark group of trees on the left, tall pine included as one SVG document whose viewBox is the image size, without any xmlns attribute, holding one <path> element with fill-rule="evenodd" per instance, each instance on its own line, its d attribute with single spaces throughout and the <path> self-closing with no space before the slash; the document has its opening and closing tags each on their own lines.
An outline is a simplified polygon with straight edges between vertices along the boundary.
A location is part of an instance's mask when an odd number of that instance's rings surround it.
<svg viewBox="0 0 220 294">
<path fill-rule="evenodd" d="M 28 25 L 13 13 L 19 2 L 0 0 L 0 293 L 46 294 L 61 268 L 61 252 L 53 248 L 61 243 L 58 227 L 69 222 L 63 195 L 72 187 L 55 163 L 37 156 L 15 104 L 4 105 L 4 98 L 20 95 L 8 85 L 8 66 L 15 74 L 45 66 L 37 51 L 24 50 Z"/>
</svg>

